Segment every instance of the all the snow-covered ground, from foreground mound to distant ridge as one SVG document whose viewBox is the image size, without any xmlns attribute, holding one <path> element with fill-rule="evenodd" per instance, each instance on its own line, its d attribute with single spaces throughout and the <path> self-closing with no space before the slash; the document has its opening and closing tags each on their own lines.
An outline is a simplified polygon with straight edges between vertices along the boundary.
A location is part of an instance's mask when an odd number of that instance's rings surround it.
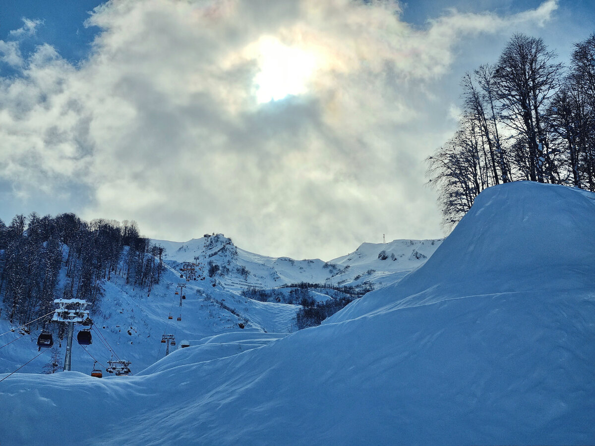
<svg viewBox="0 0 595 446">
<path fill-rule="evenodd" d="M 520 182 L 481 193 L 444 241 L 365 243 L 329 262 L 223 235 L 155 241 L 161 282 L 148 296 L 115 275 L 93 316 L 133 376 L 89 376 L 76 343 L 76 371 L 42 375 L 42 354 L 0 382 L 0 441 L 592 444 L 594 228 L 595 194 Z M 193 261 L 203 270 L 186 281 Z M 299 305 L 242 294 L 300 282 L 327 285 L 320 301 L 333 286 L 374 291 L 302 330 Z M 38 332 L 10 329 L 0 319 L 0 344 L 14 340 L 0 379 L 37 354 Z M 166 333 L 190 347 L 166 357 Z M 107 359 L 99 339 L 87 350 Z"/>
</svg>

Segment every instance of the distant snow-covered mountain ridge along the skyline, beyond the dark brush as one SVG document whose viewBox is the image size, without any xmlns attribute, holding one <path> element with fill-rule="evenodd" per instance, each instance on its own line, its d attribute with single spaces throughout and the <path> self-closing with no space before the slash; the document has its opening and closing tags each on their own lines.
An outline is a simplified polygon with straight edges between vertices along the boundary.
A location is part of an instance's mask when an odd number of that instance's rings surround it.
<svg viewBox="0 0 595 446">
<path fill-rule="evenodd" d="M 221 265 L 214 278 L 224 287 L 239 291 L 248 287 L 274 288 L 309 282 L 356 285 L 372 281 L 394 283 L 422 265 L 442 243 L 439 240 L 393 240 L 364 243 L 354 252 L 329 262 L 320 259 L 295 260 L 267 257 L 236 247 L 223 234 L 205 235 L 186 242 L 153 240 L 165 247 L 171 265 L 192 262 L 195 257 L 208 271 L 209 262 Z"/>
</svg>

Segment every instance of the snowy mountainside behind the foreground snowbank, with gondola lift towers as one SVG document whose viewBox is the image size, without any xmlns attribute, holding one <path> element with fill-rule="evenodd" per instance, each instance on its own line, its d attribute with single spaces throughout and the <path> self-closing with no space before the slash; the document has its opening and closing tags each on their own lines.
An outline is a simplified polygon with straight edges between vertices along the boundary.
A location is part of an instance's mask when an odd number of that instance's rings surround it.
<svg viewBox="0 0 595 446">
<path fill-rule="evenodd" d="M 417 255 L 412 260 L 412 252 L 424 242 L 394 241 L 389 244 L 364 244 L 353 255 L 339 259 L 337 264 L 321 260 L 293 260 L 289 257 L 266 257 L 246 252 L 237 248 L 230 238 L 223 234 L 205 235 L 184 243 L 154 240 L 166 249 L 166 271 L 161 283 L 155 285 L 148 295 L 146 288 L 134 288 L 126 285 L 124 277 L 112 274 L 111 281 L 104 283 L 105 296 L 98 309 L 93 312 L 95 321 L 94 342 L 86 350 L 77 344 L 73 348 L 72 369 L 90 373 L 94 360 L 105 368 L 107 360 L 114 351 L 115 359 L 121 358 L 132 362 L 133 372 L 145 369 L 156 360 L 165 356 L 165 346 L 160 343 L 164 334 L 174 335 L 177 341 L 189 340 L 194 345 L 203 337 L 233 332 L 239 324 L 246 331 L 289 333 L 295 330 L 295 316 L 300 308 L 296 305 L 263 303 L 246 299 L 240 295 L 246 288 L 274 288 L 296 282 L 327 282 L 340 284 L 361 284 L 371 281 L 375 286 L 394 282 L 406 272 L 425 261 Z M 438 246 L 441 241 L 426 241 L 427 247 Z M 402 245 L 402 249 L 394 249 Z M 386 250 L 387 260 L 379 260 L 378 253 Z M 365 255 L 362 253 L 365 252 Z M 425 251 L 427 255 L 433 249 Z M 196 281 L 186 282 L 180 278 L 182 262 L 194 262 L 195 257 L 201 263 Z M 353 257 L 353 268 L 350 268 Z M 381 268 L 377 266 L 381 265 Z M 209 265 L 214 265 L 217 272 L 209 277 Z M 362 274 L 361 271 L 375 272 Z M 62 271 L 64 273 L 64 271 Z M 63 274 L 62 274 L 63 275 Z M 334 276 L 334 277 L 333 277 Z M 64 280 L 64 277 L 62 278 Z M 180 296 L 174 295 L 179 282 L 186 285 L 187 297 L 183 307 L 179 307 Z M 278 293 L 287 294 L 291 288 L 282 288 Z M 334 294 L 310 291 L 318 301 L 331 299 Z M 168 319 L 168 316 L 173 319 Z M 178 317 L 181 321 L 177 321 Z M 0 351 L 0 373 L 11 372 L 27 363 L 20 372 L 41 372 L 48 363 L 49 354 L 29 362 L 37 350 L 36 338 L 40 327 L 33 326 L 31 335 L 21 337 L 19 332 L 10 332 L 8 321 L 0 318 L 2 345 L 8 346 Z M 8 333 L 5 333 L 8 332 Z M 99 335 L 99 333 L 101 335 Z M 54 327 L 57 337 L 57 327 Z M 105 337 L 102 340 L 101 337 Z M 60 349 L 59 357 L 64 357 L 65 343 L 55 344 Z M 109 347 L 109 348 L 108 348 Z M 173 347 L 172 350 L 178 347 Z"/>
</svg>

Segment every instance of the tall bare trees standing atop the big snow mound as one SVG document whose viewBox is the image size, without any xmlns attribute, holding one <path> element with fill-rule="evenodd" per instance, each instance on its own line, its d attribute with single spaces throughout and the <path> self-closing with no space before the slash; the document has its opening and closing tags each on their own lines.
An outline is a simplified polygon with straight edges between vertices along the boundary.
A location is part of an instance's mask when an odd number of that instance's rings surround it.
<svg viewBox="0 0 595 446">
<path fill-rule="evenodd" d="M 446 228 L 484 189 L 528 180 L 595 191 L 595 34 L 568 66 L 543 39 L 514 34 L 496 64 L 461 80 L 451 139 L 426 159 Z"/>
</svg>

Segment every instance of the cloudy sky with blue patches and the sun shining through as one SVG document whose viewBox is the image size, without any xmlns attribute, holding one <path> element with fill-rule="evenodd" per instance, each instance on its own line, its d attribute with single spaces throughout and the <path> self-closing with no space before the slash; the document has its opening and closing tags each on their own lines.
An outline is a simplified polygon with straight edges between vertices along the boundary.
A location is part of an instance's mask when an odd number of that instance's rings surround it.
<svg viewBox="0 0 595 446">
<path fill-rule="evenodd" d="M 515 32 L 560 61 L 590 0 L 3 0 L 0 218 L 74 212 L 330 260 L 439 238 L 424 159 Z"/>
</svg>

